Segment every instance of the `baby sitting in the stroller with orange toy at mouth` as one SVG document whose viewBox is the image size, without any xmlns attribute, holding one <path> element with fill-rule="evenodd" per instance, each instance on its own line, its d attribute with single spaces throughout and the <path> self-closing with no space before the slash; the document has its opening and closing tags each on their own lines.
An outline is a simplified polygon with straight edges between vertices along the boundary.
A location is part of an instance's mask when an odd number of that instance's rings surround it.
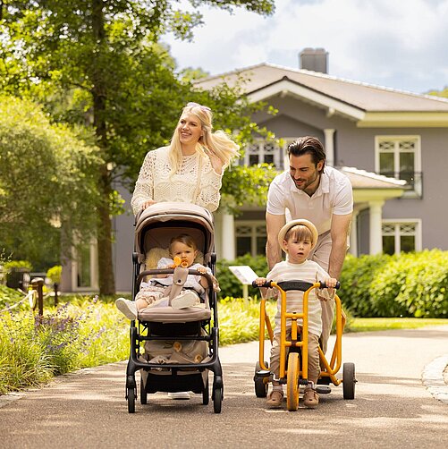
<svg viewBox="0 0 448 449">
<path fill-rule="evenodd" d="M 195 263 L 199 250 L 196 241 L 188 233 L 181 233 L 173 237 L 168 250 L 171 258 L 160 258 L 157 262 L 157 269 L 174 268 L 176 267 L 174 261 L 176 261 L 177 265 L 181 265 L 183 268 L 195 269 L 202 275 L 207 273 L 213 276 L 209 267 Z M 187 275 L 182 292 L 170 301 L 168 295 L 172 285 L 173 275 L 156 275 L 148 282 L 140 284 L 135 301 L 119 298 L 115 301 L 115 305 L 129 319 L 136 319 L 140 309 L 150 307 L 171 306 L 173 309 L 185 309 L 204 306 L 205 292 L 209 286 L 207 278 L 201 275 Z M 217 282 L 214 283 L 214 288 L 218 288 Z M 202 298 L 202 302 L 199 296 Z"/>
</svg>

